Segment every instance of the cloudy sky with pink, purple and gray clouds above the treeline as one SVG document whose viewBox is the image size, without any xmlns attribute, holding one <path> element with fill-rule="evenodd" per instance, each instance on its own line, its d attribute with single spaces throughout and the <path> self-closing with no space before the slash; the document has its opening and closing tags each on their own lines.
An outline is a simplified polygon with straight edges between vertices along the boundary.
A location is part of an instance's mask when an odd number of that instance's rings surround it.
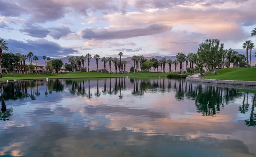
<svg viewBox="0 0 256 157">
<path fill-rule="evenodd" d="M 255 38 L 256 0 L 0 0 L 9 51 L 62 57 L 174 56 L 208 38 L 241 49 Z"/>
</svg>

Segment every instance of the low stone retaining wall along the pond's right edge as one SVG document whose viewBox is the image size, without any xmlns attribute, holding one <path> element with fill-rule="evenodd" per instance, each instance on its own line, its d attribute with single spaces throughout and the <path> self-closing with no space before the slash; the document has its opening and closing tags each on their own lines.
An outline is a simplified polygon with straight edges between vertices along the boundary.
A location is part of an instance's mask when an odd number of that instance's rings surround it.
<svg viewBox="0 0 256 157">
<path fill-rule="evenodd" d="M 214 80 L 214 79 L 204 79 L 204 78 L 186 78 L 187 81 L 195 82 L 205 82 L 213 84 L 235 84 L 235 85 L 245 85 L 245 86 L 256 86 L 256 81 L 233 81 L 233 80 Z"/>
</svg>

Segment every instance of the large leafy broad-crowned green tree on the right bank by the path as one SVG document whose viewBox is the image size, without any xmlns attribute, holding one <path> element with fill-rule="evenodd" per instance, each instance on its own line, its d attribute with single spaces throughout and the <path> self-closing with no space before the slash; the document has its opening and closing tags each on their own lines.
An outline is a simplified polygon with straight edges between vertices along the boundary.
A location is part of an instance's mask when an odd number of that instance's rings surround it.
<svg viewBox="0 0 256 157">
<path fill-rule="evenodd" d="M 198 48 L 198 59 L 213 74 L 216 74 L 216 67 L 222 62 L 224 44 L 219 39 L 207 39 Z"/>
</svg>

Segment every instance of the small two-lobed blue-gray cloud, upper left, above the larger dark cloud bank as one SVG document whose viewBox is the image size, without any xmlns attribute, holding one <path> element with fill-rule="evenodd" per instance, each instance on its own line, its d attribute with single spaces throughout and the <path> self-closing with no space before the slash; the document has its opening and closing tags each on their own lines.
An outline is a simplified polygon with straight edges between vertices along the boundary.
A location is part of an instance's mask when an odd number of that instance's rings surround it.
<svg viewBox="0 0 256 157">
<path fill-rule="evenodd" d="M 72 33 L 68 27 L 51 27 L 43 28 L 40 25 L 24 25 L 23 29 L 20 29 L 20 32 L 26 33 L 26 35 L 36 37 L 36 38 L 45 38 L 47 35 L 52 36 L 53 39 L 60 39 L 65 37 L 68 34 Z"/>
</svg>

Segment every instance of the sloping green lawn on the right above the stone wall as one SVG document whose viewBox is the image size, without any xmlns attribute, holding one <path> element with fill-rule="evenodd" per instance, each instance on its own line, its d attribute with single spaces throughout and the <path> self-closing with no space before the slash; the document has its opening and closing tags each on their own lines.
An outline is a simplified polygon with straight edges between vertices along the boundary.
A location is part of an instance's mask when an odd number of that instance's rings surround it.
<svg viewBox="0 0 256 157">
<path fill-rule="evenodd" d="M 204 78 L 217 79 L 217 80 L 256 81 L 256 67 L 250 67 L 250 68 L 236 67 L 236 69 L 224 68 L 221 70 L 226 71 L 226 73 L 219 73 L 218 75 L 205 76 Z"/>
</svg>

